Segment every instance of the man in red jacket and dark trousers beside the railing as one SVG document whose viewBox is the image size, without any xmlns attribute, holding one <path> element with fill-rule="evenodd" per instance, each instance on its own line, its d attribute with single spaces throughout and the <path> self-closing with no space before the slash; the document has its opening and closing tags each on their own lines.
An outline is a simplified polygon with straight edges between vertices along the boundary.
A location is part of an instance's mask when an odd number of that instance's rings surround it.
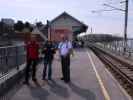
<svg viewBox="0 0 133 100">
<path fill-rule="evenodd" d="M 26 73 L 25 73 L 25 84 L 29 84 L 29 72 L 30 66 L 32 65 L 32 80 L 36 82 L 36 66 L 38 62 L 39 56 L 39 45 L 36 41 L 36 37 L 32 36 L 30 40 L 26 43 L 26 51 L 27 51 L 27 65 L 26 65 Z"/>
</svg>

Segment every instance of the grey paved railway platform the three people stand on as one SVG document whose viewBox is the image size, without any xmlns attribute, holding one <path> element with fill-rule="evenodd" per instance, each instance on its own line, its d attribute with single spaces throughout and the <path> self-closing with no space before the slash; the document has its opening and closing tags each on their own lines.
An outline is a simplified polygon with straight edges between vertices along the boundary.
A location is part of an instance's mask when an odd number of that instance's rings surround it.
<svg viewBox="0 0 133 100">
<path fill-rule="evenodd" d="M 42 81 L 43 63 L 38 65 L 38 84 L 21 82 L 3 97 L 5 100 L 132 100 L 105 65 L 90 49 L 77 49 L 71 57 L 71 82 L 61 77 L 58 54 L 53 62 L 52 81 Z"/>
</svg>

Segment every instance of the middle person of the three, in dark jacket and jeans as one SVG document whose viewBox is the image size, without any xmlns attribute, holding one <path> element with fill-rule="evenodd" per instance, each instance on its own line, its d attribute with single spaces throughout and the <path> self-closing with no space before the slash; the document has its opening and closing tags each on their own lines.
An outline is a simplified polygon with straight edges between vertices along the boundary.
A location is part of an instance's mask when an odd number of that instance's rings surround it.
<svg viewBox="0 0 133 100">
<path fill-rule="evenodd" d="M 51 80 L 52 76 L 52 62 L 55 54 L 55 48 L 52 41 L 47 41 L 43 48 L 44 53 L 44 69 L 43 69 L 43 80 L 46 79 L 46 70 L 48 66 L 48 80 Z"/>
</svg>

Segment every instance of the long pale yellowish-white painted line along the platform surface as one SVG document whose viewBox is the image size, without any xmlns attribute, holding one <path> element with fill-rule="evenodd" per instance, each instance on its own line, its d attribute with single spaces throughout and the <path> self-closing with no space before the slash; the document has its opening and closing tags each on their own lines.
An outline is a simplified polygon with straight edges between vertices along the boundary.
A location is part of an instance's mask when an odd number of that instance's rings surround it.
<svg viewBox="0 0 133 100">
<path fill-rule="evenodd" d="M 106 88 L 104 87 L 104 84 L 103 84 L 103 82 L 102 82 L 102 79 L 101 79 L 100 75 L 98 74 L 98 71 L 96 70 L 96 67 L 95 67 L 95 64 L 94 64 L 94 62 L 93 62 L 93 60 L 92 60 L 91 55 L 89 54 L 89 52 L 87 52 L 87 54 L 88 54 L 89 59 L 90 59 L 90 61 L 91 61 L 93 70 L 95 71 L 95 74 L 96 74 L 96 77 L 97 77 L 97 79 L 98 79 L 98 82 L 99 82 L 99 84 L 100 84 L 100 86 L 101 86 L 101 89 L 102 89 L 103 95 L 104 95 L 104 97 L 105 97 L 105 100 L 111 100 L 111 99 L 110 99 L 110 96 L 109 96 L 109 94 L 108 94 L 108 92 L 107 92 L 107 90 L 106 90 Z"/>
</svg>

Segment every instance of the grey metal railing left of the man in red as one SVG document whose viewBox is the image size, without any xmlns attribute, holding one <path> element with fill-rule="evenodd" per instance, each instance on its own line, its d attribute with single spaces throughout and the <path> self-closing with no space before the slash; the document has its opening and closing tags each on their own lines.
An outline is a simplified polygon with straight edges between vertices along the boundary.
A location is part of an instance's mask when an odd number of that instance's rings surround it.
<svg viewBox="0 0 133 100">
<path fill-rule="evenodd" d="M 26 51 L 24 45 L 0 47 L 0 78 L 12 69 L 19 70 L 25 63 Z"/>
</svg>

